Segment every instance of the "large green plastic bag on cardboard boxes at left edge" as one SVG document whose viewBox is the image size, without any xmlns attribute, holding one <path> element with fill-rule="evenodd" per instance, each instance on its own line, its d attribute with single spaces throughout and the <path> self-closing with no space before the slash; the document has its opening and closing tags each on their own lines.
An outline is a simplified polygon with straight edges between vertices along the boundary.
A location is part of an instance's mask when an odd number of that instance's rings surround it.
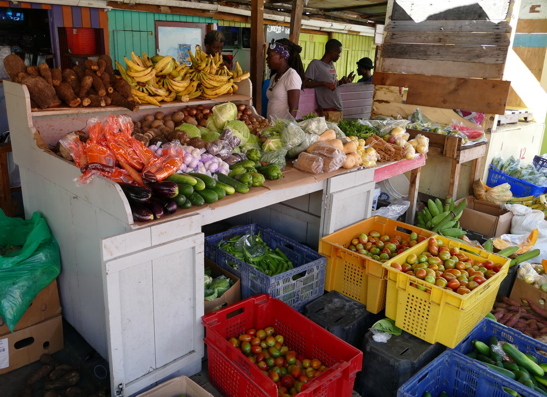
<svg viewBox="0 0 547 397">
<path fill-rule="evenodd" d="M 0 317 L 10 331 L 60 272 L 59 244 L 45 219 L 38 212 L 10 218 L 0 209 Z"/>
</svg>

